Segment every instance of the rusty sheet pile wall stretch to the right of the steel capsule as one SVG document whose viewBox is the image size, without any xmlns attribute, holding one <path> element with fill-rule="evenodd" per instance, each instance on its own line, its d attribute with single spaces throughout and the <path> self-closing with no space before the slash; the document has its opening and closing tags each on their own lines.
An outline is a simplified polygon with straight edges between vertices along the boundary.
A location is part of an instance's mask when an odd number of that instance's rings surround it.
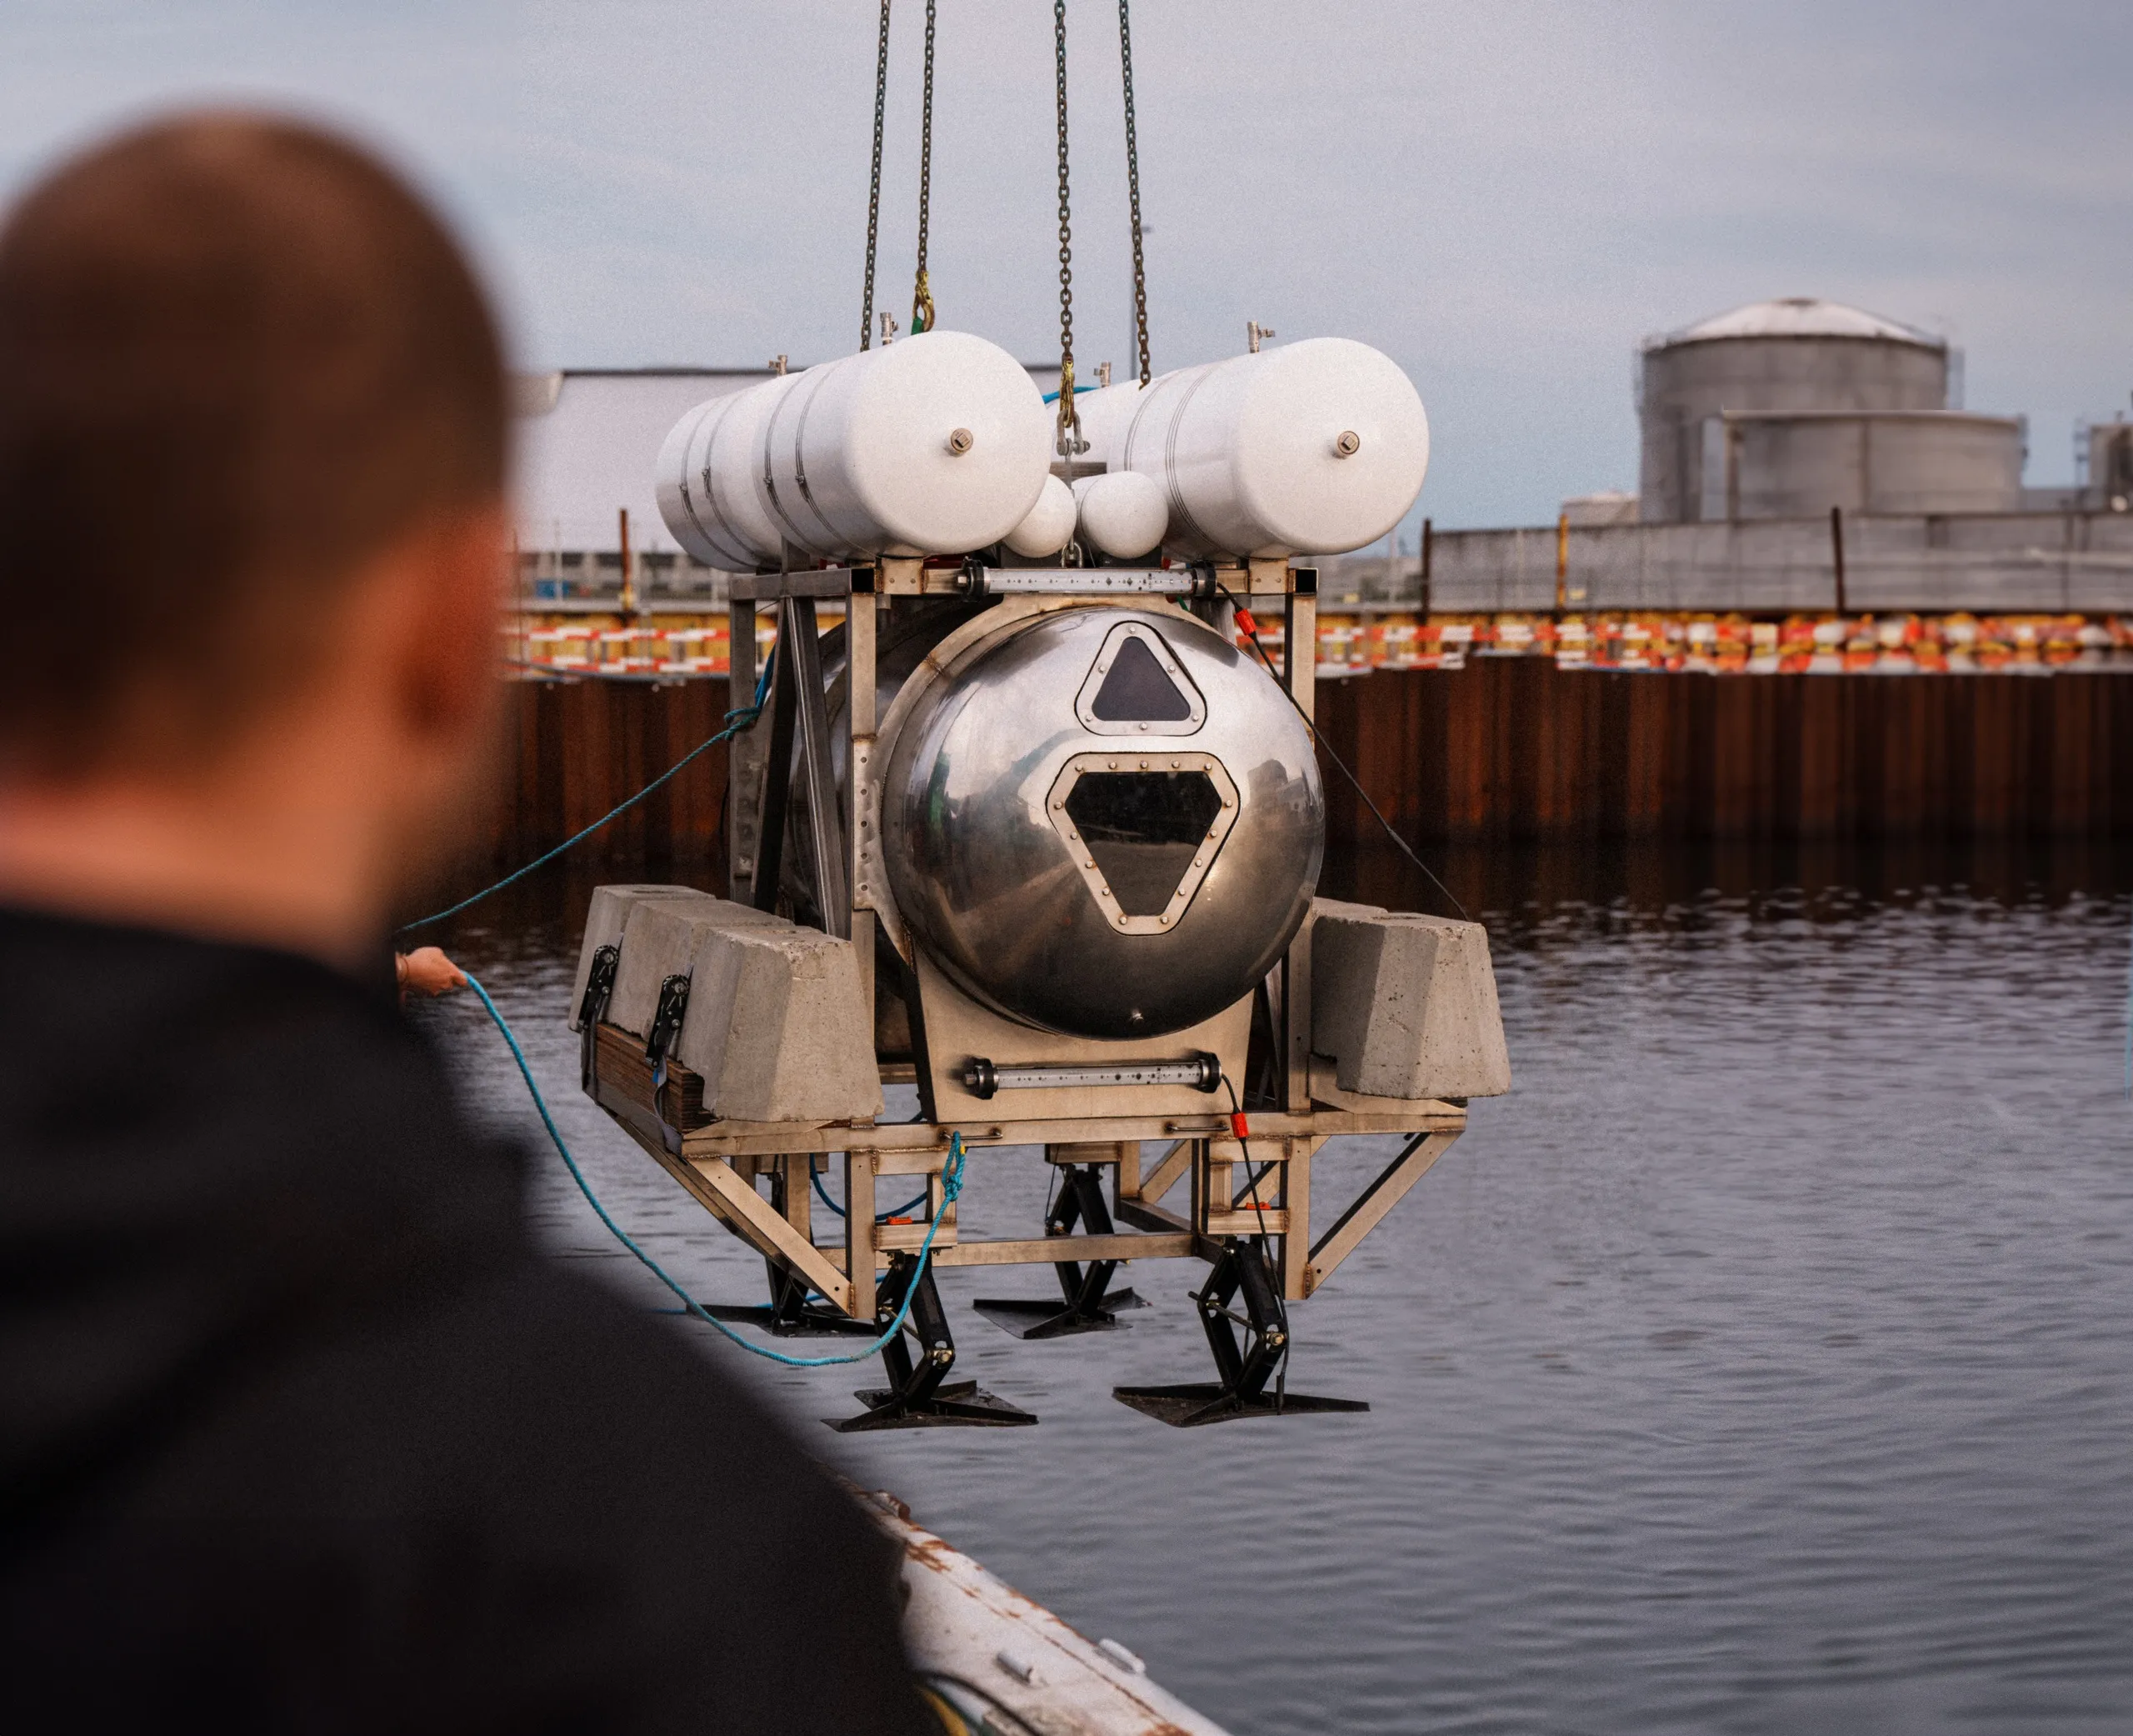
<svg viewBox="0 0 2133 1736">
<path fill-rule="evenodd" d="M 1318 693 L 1404 836 L 1918 838 L 2133 832 L 2133 680 L 1557 670 L 1478 659 Z M 1327 781 L 1327 840 L 1369 813 Z"/>
</svg>

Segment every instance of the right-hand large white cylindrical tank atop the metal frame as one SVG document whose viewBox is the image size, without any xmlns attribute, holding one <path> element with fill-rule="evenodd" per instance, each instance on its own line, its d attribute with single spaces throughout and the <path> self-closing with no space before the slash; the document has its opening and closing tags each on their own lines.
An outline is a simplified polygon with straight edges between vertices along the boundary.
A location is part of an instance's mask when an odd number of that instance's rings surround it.
<svg viewBox="0 0 2133 1736">
<path fill-rule="evenodd" d="M 1165 373 L 1137 392 L 1116 435 L 1116 412 L 1090 401 L 1126 390 L 1090 392 L 1077 409 L 1107 435 L 1109 469 L 1162 486 L 1175 554 L 1363 548 L 1406 516 L 1429 469 L 1429 418 L 1412 382 L 1346 337 Z"/>
</svg>

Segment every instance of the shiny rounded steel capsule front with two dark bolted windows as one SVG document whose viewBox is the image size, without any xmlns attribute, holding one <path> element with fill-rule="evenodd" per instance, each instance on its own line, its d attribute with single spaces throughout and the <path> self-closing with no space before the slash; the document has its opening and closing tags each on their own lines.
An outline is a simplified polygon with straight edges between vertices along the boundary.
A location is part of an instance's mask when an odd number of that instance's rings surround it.
<svg viewBox="0 0 2133 1736">
<path fill-rule="evenodd" d="M 1043 1030 L 1214 1017 L 1280 960 L 1318 885 L 1310 732 L 1182 610 L 1003 621 L 885 746 L 898 913 L 964 992 Z"/>
</svg>

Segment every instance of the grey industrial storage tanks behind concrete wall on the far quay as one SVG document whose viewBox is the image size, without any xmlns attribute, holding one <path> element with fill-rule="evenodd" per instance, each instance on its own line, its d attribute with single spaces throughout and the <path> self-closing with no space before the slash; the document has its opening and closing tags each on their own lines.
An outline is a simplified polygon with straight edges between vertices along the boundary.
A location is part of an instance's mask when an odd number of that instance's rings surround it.
<svg viewBox="0 0 2133 1736">
<path fill-rule="evenodd" d="M 1736 307 L 1638 352 L 1638 493 L 1555 525 L 1327 563 L 1331 599 L 1433 610 L 2133 610 L 2133 422 L 2024 488 L 2026 422 L 1954 405 L 1947 341 L 1832 301 Z"/>
</svg>

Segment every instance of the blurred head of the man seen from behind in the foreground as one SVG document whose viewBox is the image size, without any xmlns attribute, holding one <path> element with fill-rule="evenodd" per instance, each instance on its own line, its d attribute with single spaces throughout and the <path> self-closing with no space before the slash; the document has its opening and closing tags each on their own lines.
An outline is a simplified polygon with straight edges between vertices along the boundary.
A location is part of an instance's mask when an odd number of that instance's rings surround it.
<svg viewBox="0 0 2133 1736">
<path fill-rule="evenodd" d="M 380 921 L 480 789 L 503 478 L 482 290 L 363 151 L 198 115 L 32 188 L 0 228 L 0 896 L 105 874 L 111 915 L 158 915 L 68 840 L 198 857 L 175 834 L 215 810 L 288 834 L 250 851 L 290 872 L 337 825 L 307 872 Z"/>
</svg>

